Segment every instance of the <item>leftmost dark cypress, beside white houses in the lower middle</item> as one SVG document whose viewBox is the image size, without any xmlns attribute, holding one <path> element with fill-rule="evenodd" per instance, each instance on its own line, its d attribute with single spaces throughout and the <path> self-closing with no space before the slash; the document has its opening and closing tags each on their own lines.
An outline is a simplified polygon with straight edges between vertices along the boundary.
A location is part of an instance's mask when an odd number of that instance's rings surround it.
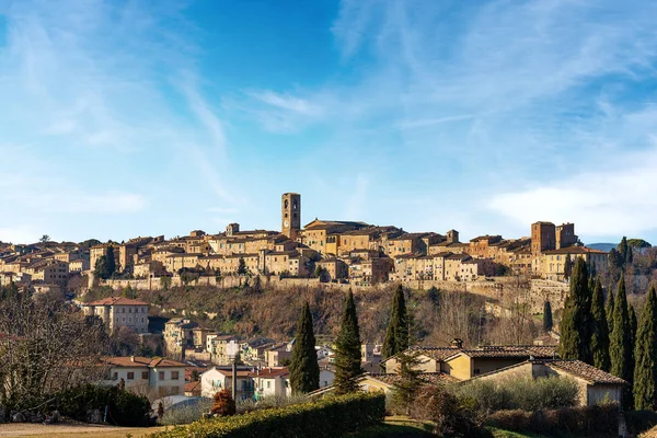
<svg viewBox="0 0 657 438">
<path fill-rule="evenodd" d="M 297 324 L 297 336 L 290 361 L 290 385 L 293 394 L 304 394 L 320 388 L 320 366 L 312 331 L 312 314 L 308 301 Z"/>
</svg>

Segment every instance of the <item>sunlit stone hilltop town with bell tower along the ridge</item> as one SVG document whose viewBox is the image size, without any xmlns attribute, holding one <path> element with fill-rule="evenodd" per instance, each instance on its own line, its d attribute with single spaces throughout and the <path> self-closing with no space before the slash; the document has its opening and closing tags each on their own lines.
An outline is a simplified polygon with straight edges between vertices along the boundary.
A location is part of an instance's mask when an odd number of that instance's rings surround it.
<svg viewBox="0 0 657 438">
<path fill-rule="evenodd" d="M 316 218 L 301 227 L 301 196 L 295 193 L 284 194 L 280 207 L 279 231 L 241 230 L 239 223 L 230 223 L 220 233 L 195 230 L 185 237 L 139 237 L 122 243 L 47 239 L 32 244 L 0 243 L 0 284 L 67 290 L 71 279 L 84 278 L 89 287 L 102 283 L 153 289 L 200 277 L 209 285 L 262 275 L 351 286 L 429 285 L 509 273 L 563 281 L 567 264 L 576 257 L 599 273 L 608 267 L 608 254 L 583 245 L 574 223 L 535 222 L 530 237 L 480 235 L 461 242 L 456 230 L 407 232 L 394 226 Z M 114 263 L 106 263 L 110 256 Z"/>
</svg>

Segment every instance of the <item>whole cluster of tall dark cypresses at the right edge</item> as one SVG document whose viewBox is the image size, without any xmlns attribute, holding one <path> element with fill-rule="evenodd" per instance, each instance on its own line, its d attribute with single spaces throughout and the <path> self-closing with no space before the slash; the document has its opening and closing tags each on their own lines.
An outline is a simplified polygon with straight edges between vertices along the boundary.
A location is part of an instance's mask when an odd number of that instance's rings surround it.
<svg viewBox="0 0 657 438">
<path fill-rule="evenodd" d="M 584 258 L 577 258 L 564 306 L 558 349 L 562 359 L 581 360 L 627 381 L 624 408 L 657 408 L 655 287 L 649 288 L 637 321 L 634 307 L 627 303 L 624 274 L 620 275 L 615 293 L 610 289 L 604 302 L 600 279 L 589 273 Z"/>
</svg>

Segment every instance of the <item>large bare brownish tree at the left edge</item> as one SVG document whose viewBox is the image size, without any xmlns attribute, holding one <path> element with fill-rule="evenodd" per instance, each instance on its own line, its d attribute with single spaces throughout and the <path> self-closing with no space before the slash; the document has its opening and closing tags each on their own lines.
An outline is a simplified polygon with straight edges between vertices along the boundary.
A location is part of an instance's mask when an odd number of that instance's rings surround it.
<svg viewBox="0 0 657 438">
<path fill-rule="evenodd" d="M 37 407 L 49 394 L 99 380 L 107 335 L 55 295 L 19 292 L 0 303 L 0 405 Z"/>
</svg>

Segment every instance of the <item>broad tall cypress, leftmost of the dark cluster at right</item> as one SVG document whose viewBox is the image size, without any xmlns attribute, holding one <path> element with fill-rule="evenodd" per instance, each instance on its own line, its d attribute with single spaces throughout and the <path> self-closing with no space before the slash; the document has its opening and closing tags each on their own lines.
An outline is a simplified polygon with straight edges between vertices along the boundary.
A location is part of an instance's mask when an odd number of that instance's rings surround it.
<svg viewBox="0 0 657 438">
<path fill-rule="evenodd" d="M 562 359 L 592 362 L 590 339 L 592 332 L 591 298 L 588 288 L 586 262 L 577 257 L 570 278 L 570 292 L 566 298 L 558 344 Z"/>
</svg>

